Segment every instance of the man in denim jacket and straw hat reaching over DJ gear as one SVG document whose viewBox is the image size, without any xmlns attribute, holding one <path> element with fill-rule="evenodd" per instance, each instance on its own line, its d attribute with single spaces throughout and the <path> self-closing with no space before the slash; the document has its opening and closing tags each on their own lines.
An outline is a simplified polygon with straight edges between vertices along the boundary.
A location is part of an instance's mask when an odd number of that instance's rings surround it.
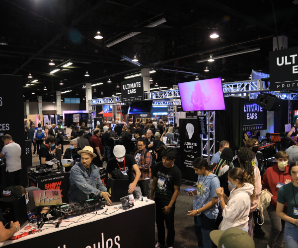
<svg viewBox="0 0 298 248">
<path fill-rule="evenodd" d="M 93 158 L 96 157 L 93 148 L 85 146 L 77 153 L 81 156 L 81 161 L 75 164 L 71 170 L 69 201 L 84 201 L 92 198 L 90 194 L 94 194 L 94 196 L 103 196 L 110 205 L 112 202 L 109 196 L 111 195 L 106 192 L 107 188 L 101 182 L 98 167 L 92 163 Z"/>
</svg>

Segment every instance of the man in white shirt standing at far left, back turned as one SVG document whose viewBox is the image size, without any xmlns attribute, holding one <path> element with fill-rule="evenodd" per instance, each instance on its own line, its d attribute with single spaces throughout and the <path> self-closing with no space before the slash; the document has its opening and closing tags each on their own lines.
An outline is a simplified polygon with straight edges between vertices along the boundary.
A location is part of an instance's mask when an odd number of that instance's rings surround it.
<svg viewBox="0 0 298 248">
<path fill-rule="evenodd" d="M 22 184 L 21 180 L 21 147 L 12 141 L 9 134 L 2 137 L 4 147 L 0 152 L 0 159 L 6 159 L 5 178 L 7 186 Z"/>
</svg>

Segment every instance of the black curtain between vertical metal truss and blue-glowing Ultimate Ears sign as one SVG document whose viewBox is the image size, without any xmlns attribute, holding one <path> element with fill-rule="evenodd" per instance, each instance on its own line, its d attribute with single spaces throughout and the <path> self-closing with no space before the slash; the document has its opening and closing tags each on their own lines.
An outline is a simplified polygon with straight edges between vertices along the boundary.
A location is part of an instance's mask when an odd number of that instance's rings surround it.
<svg viewBox="0 0 298 248">
<path fill-rule="evenodd" d="M 215 112 L 216 151 L 222 140 L 228 141 L 230 148 L 237 151 L 243 143 L 244 98 L 224 97 L 224 104 L 225 110 Z"/>
</svg>

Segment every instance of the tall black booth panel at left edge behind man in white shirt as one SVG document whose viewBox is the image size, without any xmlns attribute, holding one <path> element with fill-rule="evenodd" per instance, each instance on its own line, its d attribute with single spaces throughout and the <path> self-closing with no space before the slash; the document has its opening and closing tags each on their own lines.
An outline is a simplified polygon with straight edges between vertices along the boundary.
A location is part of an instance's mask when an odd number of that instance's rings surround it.
<svg viewBox="0 0 298 248">
<path fill-rule="evenodd" d="M 24 129 L 23 78 L 20 75 L 0 74 L 0 84 L 0 152 L 4 146 L 1 138 L 5 134 L 11 135 L 12 140 L 19 144 L 22 150 L 22 184 L 26 186 L 28 179 Z"/>
</svg>

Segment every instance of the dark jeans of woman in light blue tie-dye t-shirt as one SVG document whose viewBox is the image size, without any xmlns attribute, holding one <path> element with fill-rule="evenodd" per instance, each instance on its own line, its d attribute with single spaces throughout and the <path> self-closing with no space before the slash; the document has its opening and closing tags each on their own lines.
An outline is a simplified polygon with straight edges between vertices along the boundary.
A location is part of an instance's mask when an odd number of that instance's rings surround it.
<svg viewBox="0 0 298 248">
<path fill-rule="evenodd" d="M 210 239 L 210 232 L 214 230 L 216 219 L 209 219 L 205 214 L 195 216 L 195 232 L 198 240 L 198 248 L 215 248 Z"/>
</svg>

